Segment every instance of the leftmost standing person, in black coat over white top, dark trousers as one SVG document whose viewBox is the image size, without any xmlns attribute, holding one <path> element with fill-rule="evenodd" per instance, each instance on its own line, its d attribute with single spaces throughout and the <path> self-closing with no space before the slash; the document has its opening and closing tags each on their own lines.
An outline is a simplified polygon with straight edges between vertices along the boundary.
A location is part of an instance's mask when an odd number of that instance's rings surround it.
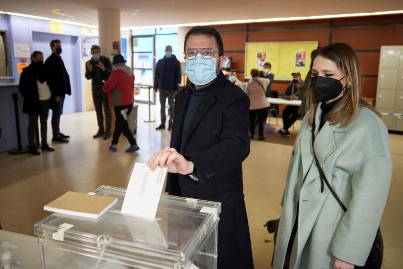
<svg viewBox="0 0 403 269">
<path fill-rule="evenodd" d="M 42 151 L 54 151 L 47 141 L 48 114 L 51 92 L 46 82 L 44 55 L 40 51 L 31 54 L 31 64 L 23 69 L 20 76 L 19 91 L 24 97 L 23 113 L 28 114 L 29 153 L 41 154 L 35 143 L 35 133 L 38 126 L 38 116 L 41 122 Z"/>
</svg>

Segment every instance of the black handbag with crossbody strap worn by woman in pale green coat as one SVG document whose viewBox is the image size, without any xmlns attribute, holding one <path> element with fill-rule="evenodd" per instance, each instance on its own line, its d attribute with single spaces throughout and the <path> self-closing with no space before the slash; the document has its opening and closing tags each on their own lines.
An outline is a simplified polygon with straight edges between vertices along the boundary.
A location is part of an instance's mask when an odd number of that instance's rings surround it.
<svg viewBox="0 0 403 269">
<path fill-rule="evenodd" d="M 341 202 L 339 196 L 337 196 L 337 194 L 334 192 L 334 190 L 332 189 L 332 186 L 330 186 L 328 180 L 326 179 L 326 176 L 325 176 L 324 172 L 322 171 L 322 168 L 320 168 L 318 158 L 316 158 L 316 154 L 315 154 L 314 142 L 315 142 L 315 123 L 312 124 L 312 151 L 314 152 L 315 163 L 319 170 L 321 192 L 323 192 L 324 183 L 326 183 L 326 186 L 329 188 L 330 193 L 332 193 L 334 199 L 336 199 L 336 201 L 339 203 L 341 208 L 343 208 L 344 212 L 347 212 L 347 208 L 345 207 L 343 202 Z M 372 248 L 371 248 L 370 254 L 368 255 L 367 261 L 365 262 L 365 265 L 364 266 L 355 266 L 354 268 L 380 269 L 382 266 L 382 259 L 383 259 L 383 240 L 382 240 L 382 234 L 380 232 L 380 228 L 378 227 L 378 231 L 376 232 L 374 244 L 372 244 Z"/>
</svg>

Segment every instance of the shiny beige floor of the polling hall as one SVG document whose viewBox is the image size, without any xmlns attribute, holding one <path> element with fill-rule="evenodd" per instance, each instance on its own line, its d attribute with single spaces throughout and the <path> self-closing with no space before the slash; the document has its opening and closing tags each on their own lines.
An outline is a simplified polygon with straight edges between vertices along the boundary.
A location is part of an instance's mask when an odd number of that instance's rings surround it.
<svg viewBox="0 0 403 269">
<path fill-rule="evenodd" d="M 153 115 L 159 115 L 156 106 Z M 94 111 L 62 116 L 61 130 L 71 135 L 71 142 L 54 145 L 53 153 L 41 156 L 0 153 L 3 228 L 32 235 L 33 224 L 49 214 L 42 210 L 44 204 L 67 190 L 88 192 L 99 185 L 126 187 L 135 162 L 146 162 L 154 151 L 169 145 L 170 133 L 155 131 L 159 122 L 144 123 L 146 117 L 147 107 L 140 105 L 137 140 L 141 149 L 137 154 L 124 152 L 129 146 L 124 137 L 117 153 L 108 151 L 109 141 L 92 139 L 97 130 Z M 290 139 L 274 132 L 266 135 L 264 142 L 252 141 L 251 154 L 243 164 L 253 258 L 258 269 L 270 268 L 273 243 L 265 240 L 273 237 L 263 224 L 280 215 L 285 174 L 298 127 L 299 122 L 295 130 L 290 130 Z M 386 269 L 402 268 L 403 257 L 403 135 L 391 134 L 390 139 L 393 180 L 381 223 Z"/>
</svg>

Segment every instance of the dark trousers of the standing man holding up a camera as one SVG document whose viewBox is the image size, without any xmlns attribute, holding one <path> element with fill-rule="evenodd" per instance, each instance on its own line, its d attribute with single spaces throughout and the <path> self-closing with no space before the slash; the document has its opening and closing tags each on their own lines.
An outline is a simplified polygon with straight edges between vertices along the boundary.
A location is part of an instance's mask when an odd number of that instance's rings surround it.
<svg viewBox="0 0 403 269">
<path fill-rule="evenodd" d="M 112 114 L 110 113 L 108 93 L 103 91 L 92 91 L 92 100 L 94 102 L 95 111 L 97 112 L 98 129 L 100 132 L 110 132 L 110 126 L 112 122 Z M 105 111 L 105 125 L 104 129 L 104 114 L 102 113 L 102 105 L 104 105 Z"/>
</svg>

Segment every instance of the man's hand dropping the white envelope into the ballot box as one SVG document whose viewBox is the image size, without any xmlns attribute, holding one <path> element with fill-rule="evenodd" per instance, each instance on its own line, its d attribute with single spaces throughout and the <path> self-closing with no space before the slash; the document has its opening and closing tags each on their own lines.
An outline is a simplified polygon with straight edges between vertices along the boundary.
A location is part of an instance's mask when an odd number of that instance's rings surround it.
<svg viewBox="0 0 403 269">
<path fill-rule="evenodd" d="M 147 162 L 150 170 L 154 170 L 157 166 L 160 168 L 167 167 L 168 172 L 176 174 L 191 174 L 193 172 L 194 164 L 185 160 L 181 154 L 174 148 L 166 147 L 161 151 L 155 153 Z"/>
</svg>

